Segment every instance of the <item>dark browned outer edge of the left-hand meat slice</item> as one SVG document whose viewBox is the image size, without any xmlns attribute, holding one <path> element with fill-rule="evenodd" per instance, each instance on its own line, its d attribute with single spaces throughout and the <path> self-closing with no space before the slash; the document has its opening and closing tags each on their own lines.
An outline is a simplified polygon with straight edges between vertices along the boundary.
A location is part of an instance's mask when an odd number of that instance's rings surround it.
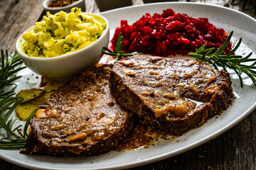
<svg viewBox="0 0 256 170">
<path fill-rule="evenodd" d="M 100 69 L 108 69 L 106 68 L 108 66 L 103 66 Z M 97 70 L 97 72 L 100 72 L 100 69 Z M 106 70 L 105 70 L 106 71 Z M 104 71 L 104 72 L 105 72 Z M 107 74 L 110 74 L 109 71 L 107 71 Z M 103 71 L 100 74 L 104 74 Z M 78 74 L 77 77 L 75 77 L 73 80 L 68 81 L 65 85 L 72 84 L 72 82 L 80 82 L 78 81 L 80 78 L 83 79 L 84 74 Z M 94 78 L 93 78 L 94 79 Z M 96 79 L 97 81 L 97 79 Z M 71 82 L 71 83 L 70 83 Z M 73 83 L 76 84 L 76 83 Z M 68 85 L 69 86 L 69 85 Z M 72 88 L 72 85 L 70 85 Z M 76 85 L 75 85 L 76 86 Z M 110 88 L 107 86 L 107 88 Z M 59 88 L 61 89 L 61 87 Z M 55 91 L 55 93 L 62 93 L 62 91 L 59 89 Z M 107 94 L 109 95 L 109 94 Z M 110 94 L 111 95 L 111 94 Z M 53 95 L 52 95 L 53 96 Z M 101 100 L 102 101 L 102 100 Z M 107 101 L 102 101 L 102 102 L 107 102 Z M 122 125 L 119 126 L 119 129 L 112 132 L 112 134 L 108 137 L 105 137 L 102 140 L 97 140 L 97 141 L 91 141 L 89 143 L 90 147 L 88 146 L 88 143 L 78 143 L 76 146 L 76 143 L 70 143 L 64 144 L 56 144 L 52 145 L 49 138 L 43 137 L 42 135 L 42 129 L 40 128 L 40 125 L 43 123 L 43 120 L 39 120 L 39 118 L 36 118 L 36 116 L 33 116 L 31 120 L 31 133 L 28 136 L 26 140 L 26 154 L 48 154 L 56 157 L 61 157 L 61 156 L 78 156 L 78 155 L 84 155 L 84 156 L 91 156 L 91 155 L 98 155 L 98 154 L 103 154 L 105 152 L 109 152 L 110 149 L 114 149 L 117 145 L 119 145 L 119 142 L 121 142 L 124 137 L 127 137 L 129 132 L 131 132 L 132 127 L 133 127 L 133 113 L 132 112 L 127 112 L 122 106 L 118 105 L 118 102 L 116 102 L 113 107 L 112 106 L 108 107 L 107 109 L 116 109 L 114 111 L 119 111 L 117 114 L 126 114 L 123 116 L 124 120 L 122 120 Z M 58 103 L 60 105 L 60 103 Z M 44 108 L 49 107 L 48 105 L 43 106 Z M 120 124 L 120 123 L 119 123 Z M 118 132 L 117 132 L 118 131 Z M 55 135 L 55 134 L 53 134 Z M 50 144 L 49 144 L 50 143 Z M 73 145 L 75 144 L 75 145 Z M 87 150 L 85 148 L 87 147 Z M 71 150 L 71 151 L 70 151 Z M 75 152 L 78 151 L 79 154 L 75 154 Z M 82 151 L 82 152 L 81 152 Z"/>
</svg>

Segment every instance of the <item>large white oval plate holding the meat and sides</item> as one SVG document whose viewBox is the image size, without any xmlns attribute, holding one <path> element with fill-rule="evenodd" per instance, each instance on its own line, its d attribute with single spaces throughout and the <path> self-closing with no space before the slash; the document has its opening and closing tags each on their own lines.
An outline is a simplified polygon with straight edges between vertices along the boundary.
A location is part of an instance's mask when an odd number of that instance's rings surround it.
<svg viewBox="0 0 256 170">
<path fill-rule="evenodd" d="M 144 13 L 162 13 L 165 8 L 172 8 L 176 13 L 187 13 L 195 18 L 206 17 L 210 23 L 217 27 L 224 28 L 228 32 L 234 30 L 233 40 L 242 37 L 243 43 L 239 49 L 240 53 L 252 51 L 254 52 L 252 57 L 256 57 L 256 20 L 230 8 L 208 4 L 172 2 L 119 8 L 106 11 L 102 15 L 109 20 L 110 30 L 113 34 L 114 29 L 119 26 L 120 20 L 128 20 L 129 24 L 132 24 L 141 18 Z M 33 74 L 29 69 L 23 70 L 19 74 L 23 75 L 23 77 L 18 81 L 18 89 L 16 91 L 38 86 L 40 77 L 36 78 L 37 75 Z M 0 150 L 0 157 L 29 169 L 127 169 L 174 157 L 212 140 L 254 111 L 256 108 L 256 86 L 245 76 L 245 87 L 241 89 L 238 77 L 233 72 L 230 72 L 230 75 L 233 81 L 235 99 L 233 105 L 227 111 L 224 111 L 218 118 L 210 118 L 208 123 L 201 128 L 191 130 L 186 135 L 169 141 L 157 142 L 154 147 L 125 152 L 112 151 L 97 157 L 68 158 L 30 156 L 19 154 L 18 151 Z M 178 142 L 176 142 L 177 140 Z"/>
</svg>

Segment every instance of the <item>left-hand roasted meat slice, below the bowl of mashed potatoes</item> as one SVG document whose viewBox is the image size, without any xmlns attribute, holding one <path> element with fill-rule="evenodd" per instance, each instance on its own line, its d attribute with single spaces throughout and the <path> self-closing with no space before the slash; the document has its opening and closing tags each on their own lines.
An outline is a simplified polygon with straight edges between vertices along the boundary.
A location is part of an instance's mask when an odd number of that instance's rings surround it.
<svg viewBox="0 0 256 170">
<path fill-rule="evenodd" d="M 132 112 L 110 94 L 110 67 L 81 72 L 60 86 L 31 120 L 29 154 L 97 155 L 132 130 Z"/>
</svg>

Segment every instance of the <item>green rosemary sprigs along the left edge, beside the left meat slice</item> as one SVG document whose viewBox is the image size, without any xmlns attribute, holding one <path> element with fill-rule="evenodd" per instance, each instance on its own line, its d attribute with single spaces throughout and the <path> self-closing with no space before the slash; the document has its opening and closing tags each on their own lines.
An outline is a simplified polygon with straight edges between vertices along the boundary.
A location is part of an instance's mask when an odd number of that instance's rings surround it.
<svg viewBox="0 0 256 170">
<path fill-rule="evenodd" d="M 6 137 L 0 140 L 0 149 L 21 149 L 25 147 L 26 137 L 28 137 L 27 129 L 28 123 L 30 122 L 33 111 L 26 123 L 21 130 L 22 125 L 18 125 L 14 128 L 14 123 L 16 119 L 10 118 L 11 113 L 13 113 L 16 106 L 18 106 L 23 98 L 16 97 L 14 89 L 16 84 L 13 82 L 19 79 L 21 76 L 16 76 L 16 73 L 21 69 L 26 67 L 21 66 L 22 61 L 18 53 L 15 52 L 14 55 L 9 57 L 8 51 L 4 54 L 4 50 L 1 50 L 1 62 L 0 62 L 0 128 L 6 130 Z M 10 91 L 7 91 L 7 87 L 14 86 Z"/>
</svg>

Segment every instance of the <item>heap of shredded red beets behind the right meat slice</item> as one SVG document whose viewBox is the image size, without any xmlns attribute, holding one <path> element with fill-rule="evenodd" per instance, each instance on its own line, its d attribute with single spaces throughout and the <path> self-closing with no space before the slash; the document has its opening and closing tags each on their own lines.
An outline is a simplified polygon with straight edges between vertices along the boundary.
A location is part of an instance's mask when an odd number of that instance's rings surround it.
<svg viewBox="0 0 256 170">
<path fill-rule="evenodd" d="M 117 45 L 119 32 L 123 36 L 124 52 L 142 52 L 150 55 L 187 55 L 207 44 L 218 49 L 228 38 L 223 28 L 216 28 L 208 18 L 192 18 L 184 13 L 175 13 L 171 8 L 162 14 L 146 13 L 139 21 L 129 26 L 121 21 L 121 27 L 114 32 L 112 47 Z M 231 43 L 225 52 L 231 51 Z"/>
</svg>

